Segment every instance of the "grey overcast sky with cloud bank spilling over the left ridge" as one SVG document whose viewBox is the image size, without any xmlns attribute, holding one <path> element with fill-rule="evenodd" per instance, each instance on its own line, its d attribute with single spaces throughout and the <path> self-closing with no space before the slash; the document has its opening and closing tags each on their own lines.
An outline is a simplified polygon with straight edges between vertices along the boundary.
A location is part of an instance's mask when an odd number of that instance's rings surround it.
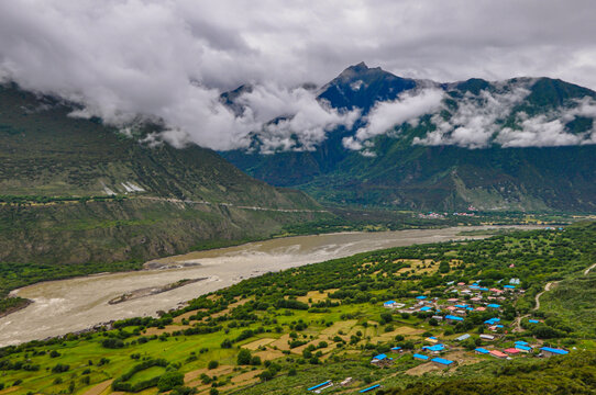
<svg viewBox="0 0 596 395">
<path fill-rule="evenodd" d="M 0 78 L 113 123 L 158 116 L 173 144 L 214 149 L 297 114 L 268 131 L 284 146 L 287 131 L 317 142 L 352 124 L 357 114 L 297 87 L 361 60 L 438 81 L 548 76 L 596 89 L 595 14 L 592 0 L 11 0 L 0 2 Z M 238 116 L 217 99 L 245 82 L 260 88 Z"/>
</svg>

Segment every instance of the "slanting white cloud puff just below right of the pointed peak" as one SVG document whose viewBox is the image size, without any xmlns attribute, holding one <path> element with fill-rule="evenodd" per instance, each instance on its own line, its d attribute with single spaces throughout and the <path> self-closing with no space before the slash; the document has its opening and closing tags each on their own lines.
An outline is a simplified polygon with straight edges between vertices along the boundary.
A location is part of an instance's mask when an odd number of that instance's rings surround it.
<svg viewBox="0 0 596 395">
<path fill-rule="evenodd" d="M 343 146 L 360 150 L 362 142 L 390 132 L 395 126 L 406 122 L 413 123 L 424 114 L 433 113 L 441 108 L 444 92 L 440 89 L 424 89 L 401 93 L 395 101 L 379 102 L 366 115 L 366 125 L 356 131 L 354 137 L 345 137 Z"/>
</svg>

